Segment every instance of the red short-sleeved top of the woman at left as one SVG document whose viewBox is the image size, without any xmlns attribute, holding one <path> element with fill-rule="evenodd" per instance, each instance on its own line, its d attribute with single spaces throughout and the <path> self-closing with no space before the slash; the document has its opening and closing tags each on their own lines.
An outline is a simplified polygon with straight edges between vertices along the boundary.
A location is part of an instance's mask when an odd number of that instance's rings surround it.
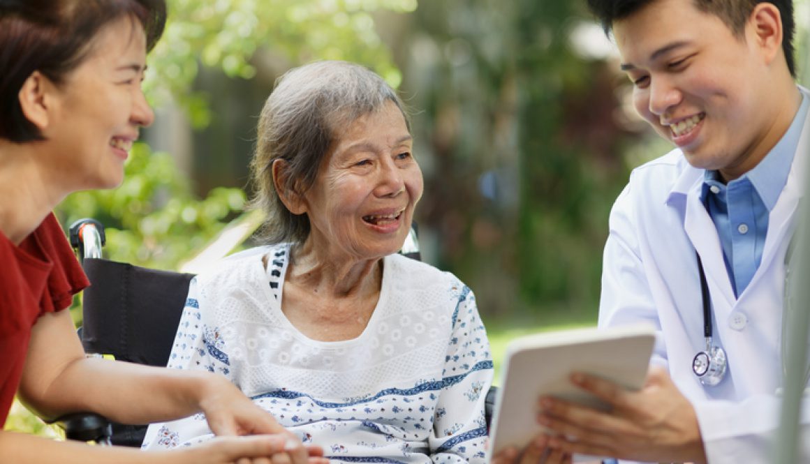
<svg viewBox="0 0 810 464">
<path fill-rule="evenodd" d="M 53 214 L 19 246 L 0 233 L 0 428 L 19 386 L 37 318 L 68 308 L 89 284 Z"/>
</svg>

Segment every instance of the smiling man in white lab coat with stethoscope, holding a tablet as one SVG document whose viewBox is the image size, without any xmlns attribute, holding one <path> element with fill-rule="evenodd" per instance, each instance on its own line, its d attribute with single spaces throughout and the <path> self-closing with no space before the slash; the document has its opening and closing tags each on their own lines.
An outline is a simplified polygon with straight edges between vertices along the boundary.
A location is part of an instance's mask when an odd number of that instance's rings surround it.
<svg viewBox="0 0 810 464">
<path fill-rule="evenodd" d="M 794 79 L 792 2 L 589 6 L 613 32 L 638 113 L 676 145 L 636 168 L 616 200 L 599 309 L 600 326 L 658 327 L 653 364 L 661 368 L 638 392 L 574 376 L 612 402 L 612 414 L 543 398 L 539 422 L 569 437 L 548 438 L 565 452 L 770 462 L 786 256 L 808 157 L 798 147 L 810 136 L 810 96 Z M 697 256 L 711 346 L 727 354 L 723 377 L 694 372 L 703 372 L 693 361 L 706 351 Z M 800 432 L 802 462 L 810 462 L 810 414 Z"/>
</svg>

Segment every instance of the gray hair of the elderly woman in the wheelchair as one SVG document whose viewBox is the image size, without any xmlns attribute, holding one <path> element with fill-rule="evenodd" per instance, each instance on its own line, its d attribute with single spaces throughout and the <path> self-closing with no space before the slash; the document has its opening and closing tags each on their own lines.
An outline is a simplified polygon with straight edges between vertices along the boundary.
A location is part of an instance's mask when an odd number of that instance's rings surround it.
<svg viewBox="0 0 810 464">
<path fill-rule="evenodd" d="M 309 236 L 307 215 L 284 206 L 273 184 L 272 164 L 284 160 L 283 189 L 304 194 L 315 182 L 330 147 L 358 117 L 402 100 L 373 71 L 349 62 L 313 62 L 288 70 L 275 84 L 258 121 L 250 172 L 256 192 L 251 206 L 266 213 L 260 237 L 267 243 L 302 244 Z"/>
</svg>

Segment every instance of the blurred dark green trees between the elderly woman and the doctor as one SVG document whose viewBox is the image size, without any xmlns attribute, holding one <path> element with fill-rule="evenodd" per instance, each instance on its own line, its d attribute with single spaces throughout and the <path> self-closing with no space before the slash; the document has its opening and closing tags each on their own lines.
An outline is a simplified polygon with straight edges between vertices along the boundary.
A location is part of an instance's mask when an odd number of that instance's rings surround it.
<svg viewBox="0 0 810 464">
<path fill-rule="evenodd" d="M 423 222 L 490 315 L 595 317 L 608 210 L 626 181 L 614 74 L 574 53 L 578 2 L 423 2 L 396 56 L 424 109 Z M 419 155 L 419 153 L 417 153 Z"/>
</svg>

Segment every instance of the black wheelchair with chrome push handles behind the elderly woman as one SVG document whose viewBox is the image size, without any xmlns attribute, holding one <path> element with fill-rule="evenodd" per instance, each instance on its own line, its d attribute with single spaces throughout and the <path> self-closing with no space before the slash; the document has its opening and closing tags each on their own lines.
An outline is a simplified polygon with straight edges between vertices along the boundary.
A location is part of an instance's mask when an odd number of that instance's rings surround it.
<svg viewBox="0 0 810 464">
<path fill-rule="evenodd" d="M 88 356 L 164 367 L 172 350 L 185 296 L 194 275 L 148 269 L 101 258 L 104 226 L 79 219 L 70 226 L 76 249 L 92 285 L 83 294 L 79 338 Z M 416 226 L 399 253 L 420 260 Z M 492 420 L 497 388 L 486 397 L 486 421 Z M 55 421 L 66 438 L 102 445 L 140 447 L 147 424 L 115 424 L 93 413 L 75 413 Z"/>
</svg>

